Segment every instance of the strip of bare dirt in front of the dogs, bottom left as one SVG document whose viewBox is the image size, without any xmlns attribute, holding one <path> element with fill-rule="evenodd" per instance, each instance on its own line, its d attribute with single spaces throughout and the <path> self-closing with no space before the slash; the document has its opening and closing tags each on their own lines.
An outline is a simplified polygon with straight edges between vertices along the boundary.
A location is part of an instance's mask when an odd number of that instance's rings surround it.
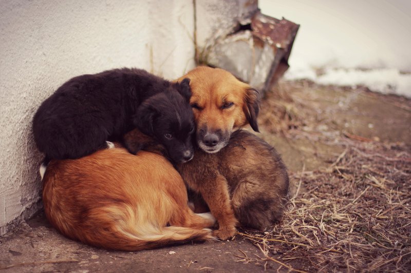
<svg viewBox="0 0 411 273">
<path fill-rule="evenodd" d="M 248 240 L 206 242 L 136 252 L 89 247 L 61 236 L 41 213 L 1 238 L 1 272 L 259 272 L 258 264 L 237 262 L 258 254 Z M 24 264 L 26 263 L 26 264 Z"/>
</svg>

